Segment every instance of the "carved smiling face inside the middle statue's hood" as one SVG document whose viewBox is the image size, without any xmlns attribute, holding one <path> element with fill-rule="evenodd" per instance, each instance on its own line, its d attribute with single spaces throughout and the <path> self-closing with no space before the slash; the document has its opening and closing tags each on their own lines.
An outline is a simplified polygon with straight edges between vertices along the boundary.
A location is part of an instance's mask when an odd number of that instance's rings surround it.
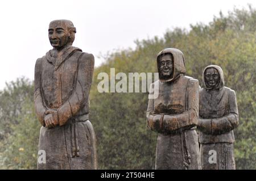
<svg viewBox="0 0 256 181">
<path fill-rule="evenodd" d="M 170 78 L 174 73 L 174 60 L 171 54 L 164 54 L 159 63 L 162 77 Z"/>
</svg>

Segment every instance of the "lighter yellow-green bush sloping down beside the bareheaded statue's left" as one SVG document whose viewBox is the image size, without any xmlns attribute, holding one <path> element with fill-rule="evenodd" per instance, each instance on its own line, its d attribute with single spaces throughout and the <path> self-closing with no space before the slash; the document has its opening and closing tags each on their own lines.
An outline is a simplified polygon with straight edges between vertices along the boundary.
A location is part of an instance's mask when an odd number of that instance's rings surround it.
<svg viewBox="0 0 256 181">
<path fill-rule="evenodd" d="M 0 168 L 36 169 L 40 124 L 34 112 L 34 103 L 26 100 L 19 123 L 11 127 L 13 134 L 5 141 Z"/>
</svg>

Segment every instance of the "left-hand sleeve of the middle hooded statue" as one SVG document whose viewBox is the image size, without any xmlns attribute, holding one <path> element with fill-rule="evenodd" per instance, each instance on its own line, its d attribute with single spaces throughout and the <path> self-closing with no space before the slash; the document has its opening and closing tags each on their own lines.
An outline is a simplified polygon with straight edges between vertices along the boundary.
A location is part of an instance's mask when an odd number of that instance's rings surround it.
<svg viewBox="0 0 256 181">
<path fill-rule="evenodd" d="M 148 107 L 147 107 L 147 128 L 151 131 L 162 132 L 162 119 L 163 115 L 154 114 L 154 83 L 150 85 L 150 94 L 148 95 Z"/>
</svg>

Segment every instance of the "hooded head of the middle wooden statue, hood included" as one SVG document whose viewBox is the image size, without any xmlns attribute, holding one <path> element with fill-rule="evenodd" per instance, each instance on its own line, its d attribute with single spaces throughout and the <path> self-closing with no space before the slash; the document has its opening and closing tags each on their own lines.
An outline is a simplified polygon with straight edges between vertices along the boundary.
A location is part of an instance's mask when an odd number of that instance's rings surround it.
<svg viewBox="0 0 256 181">
<path fill-rule="evenodd" d="M 181 74 L 185 74 L 185 60 L 183 53 L 176 48 L 166 48 L 158 53 L 159 80 L 161 82 L 174 81 Z"/>
</svg>

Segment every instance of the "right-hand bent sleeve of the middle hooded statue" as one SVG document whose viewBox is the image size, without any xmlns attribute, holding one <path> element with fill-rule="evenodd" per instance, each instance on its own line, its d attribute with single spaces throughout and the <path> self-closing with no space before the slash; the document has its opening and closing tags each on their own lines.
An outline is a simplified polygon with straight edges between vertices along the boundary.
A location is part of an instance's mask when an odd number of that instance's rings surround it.
<svg viewBox="0 0 256 181">
<path fill-rule="evenodd" d="M 199 117 L 199 82 L 197 79 L 189 79 L 186 97 L 186 111 L 176 115 L 164 115 L 162 123 L 164 132 L 190 129 L 197 125 Z"/>
</svg>

